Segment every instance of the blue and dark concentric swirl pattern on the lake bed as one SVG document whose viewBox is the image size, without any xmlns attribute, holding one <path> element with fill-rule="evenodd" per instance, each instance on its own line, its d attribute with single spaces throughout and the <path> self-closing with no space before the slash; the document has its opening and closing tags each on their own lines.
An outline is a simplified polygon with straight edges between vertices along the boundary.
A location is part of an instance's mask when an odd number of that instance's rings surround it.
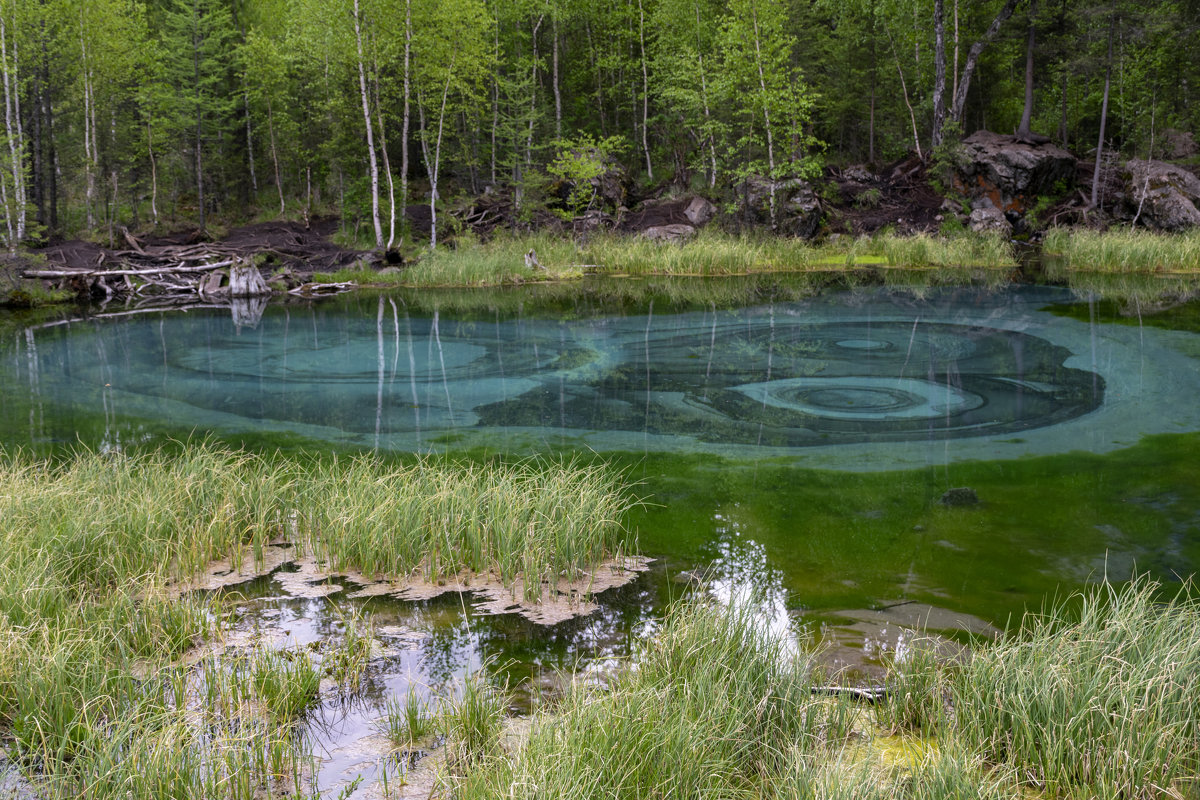
<svg viewBox="0 0 1200 800">
<path fill-rule="evenodd" d="M 607 449 L 918 441 L 1044 428 L 1104 402 L 1100 375 L 1032 332 L 832 303 L 480 321 L 360 301 L 269 308 L 254 330 L 218 314 L 46 329 L 14 362 L 106 425 L 397 449 L 475 434 Z"/>
</svg>

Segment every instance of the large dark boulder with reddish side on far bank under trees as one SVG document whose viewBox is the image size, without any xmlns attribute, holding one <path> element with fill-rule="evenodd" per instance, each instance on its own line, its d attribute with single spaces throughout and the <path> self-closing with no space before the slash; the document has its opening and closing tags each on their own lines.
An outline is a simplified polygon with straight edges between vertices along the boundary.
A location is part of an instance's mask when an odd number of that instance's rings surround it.
<svg viewBox="0 0 1200 800">
<path fill-rule="evenodd" d="M 1001 211 L 1025 211 L 1039 194 L 1058 194 L 1075 181 L 1076 160 L 1062 148 L 976 131 L 962 140 L 960 188 L 986 197 Z"/>
</svg>

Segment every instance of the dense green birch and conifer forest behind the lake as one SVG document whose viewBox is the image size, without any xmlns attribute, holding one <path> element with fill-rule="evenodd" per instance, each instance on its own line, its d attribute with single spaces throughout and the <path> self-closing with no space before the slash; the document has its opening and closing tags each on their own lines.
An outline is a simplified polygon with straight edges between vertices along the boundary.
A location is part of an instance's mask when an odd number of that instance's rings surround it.
<svg viewBox="0 0 1200 800">
<path fill-rule="evenodd" d="M 1200 0 L 0 0 L 0 237 L 332 212 L 383 248 L 409 206 L 578 212 L 607 163 L 720 201 L 979 128 L 1170 156 L 1198 42 Z"/>
</svg>

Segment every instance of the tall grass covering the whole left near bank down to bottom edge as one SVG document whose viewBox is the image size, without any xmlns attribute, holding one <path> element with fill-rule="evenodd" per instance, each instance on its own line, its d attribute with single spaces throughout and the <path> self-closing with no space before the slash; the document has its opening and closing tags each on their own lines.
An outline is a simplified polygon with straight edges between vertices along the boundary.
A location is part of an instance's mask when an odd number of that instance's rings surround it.
<svg viewBox="0 0 1200 800">
<path fill-rule="evenodd" d="M 355 691 L 370 622 L 313 663 L 256 651 L 175 666 L 217 609 L 164 584 L 280 540 L 346 569 L 491 572 L 527 595 L 629 546 L 628 488 L 599 468 L 284 459 L 211 443 L 58 462 L 0 453 L 0 736 L 44 798 L 302 790 L 293 723 L 322 673 Z"/>
</svg>

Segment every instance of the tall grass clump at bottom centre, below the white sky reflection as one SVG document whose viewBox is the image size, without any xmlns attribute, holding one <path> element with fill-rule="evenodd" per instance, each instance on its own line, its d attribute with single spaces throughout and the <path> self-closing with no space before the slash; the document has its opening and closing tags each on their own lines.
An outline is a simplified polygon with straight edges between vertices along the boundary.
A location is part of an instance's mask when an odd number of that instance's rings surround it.
<svg viewBox="0 0 1200 800">
<path fill-rule="evenodd" d="M 677 604 L 611 690 L 574 687 L 455 796 L 767 796 L 796 751 L 850 730 L 845 702 L 812 696 L 814 672 L 748 607 Z"/>
</svg>

